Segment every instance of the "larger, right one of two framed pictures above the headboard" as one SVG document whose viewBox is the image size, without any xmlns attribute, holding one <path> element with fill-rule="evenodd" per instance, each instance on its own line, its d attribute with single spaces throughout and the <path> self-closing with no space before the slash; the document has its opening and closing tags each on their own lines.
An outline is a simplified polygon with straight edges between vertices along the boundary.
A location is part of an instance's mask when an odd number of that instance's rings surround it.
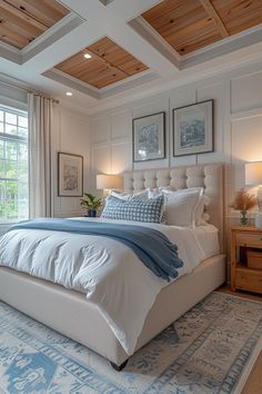
<svg viewBox="0 0 262 394">
<path fill-rule="evenodd" d="M 213 99 L 173 109 L 173 156 L 214 151 Z"/>
</svg>

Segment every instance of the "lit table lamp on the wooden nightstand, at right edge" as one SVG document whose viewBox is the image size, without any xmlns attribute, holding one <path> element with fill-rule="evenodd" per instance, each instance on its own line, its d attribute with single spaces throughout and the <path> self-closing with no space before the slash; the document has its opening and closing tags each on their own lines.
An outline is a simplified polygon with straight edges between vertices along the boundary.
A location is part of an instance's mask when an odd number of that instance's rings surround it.
<svg viewBox="0 0 262 394">
<path fill-rule="evenodd" d="M 258 205 L 259 211 L 254 219 L 255 227 L 262 227 L 262 161 L 245 164 L 245 185 L 259 186 Z"/>
</svg>

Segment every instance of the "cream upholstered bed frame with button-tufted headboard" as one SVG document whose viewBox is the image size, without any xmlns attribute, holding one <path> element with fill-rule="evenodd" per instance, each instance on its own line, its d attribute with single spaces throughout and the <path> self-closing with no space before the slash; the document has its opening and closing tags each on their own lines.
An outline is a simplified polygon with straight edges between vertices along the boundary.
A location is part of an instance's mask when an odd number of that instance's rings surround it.
<svg viewBox="0 0 262 394">
<path fill-rule="evenodd" d="M 206 213 L 219 229 L 221 253 L 203 260 L 193 272 L 164 287 L 144 322 L 135 351 L 225 280 L 223 166 L 203 165 L 124 174 L 127 191 L 147 187 L 177 189 L 204 187 L 210 197 Z M 128 358 L 112 329 L 85 294 L 0 267 L 0 298 L 103 355 L 120 366 Z"/>
</svg>

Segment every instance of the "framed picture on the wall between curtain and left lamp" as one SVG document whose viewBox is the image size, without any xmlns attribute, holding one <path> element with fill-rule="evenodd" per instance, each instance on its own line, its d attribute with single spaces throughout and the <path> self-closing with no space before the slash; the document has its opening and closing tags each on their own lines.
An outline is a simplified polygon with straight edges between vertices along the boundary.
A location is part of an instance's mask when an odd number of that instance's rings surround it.
<svg viewBox="0 0 262 394">
<path fill-rule="evenodd" d="M 60 197 L 82 197 L 83 157 L 58 152 L 58 195 Z"/>
</svg>

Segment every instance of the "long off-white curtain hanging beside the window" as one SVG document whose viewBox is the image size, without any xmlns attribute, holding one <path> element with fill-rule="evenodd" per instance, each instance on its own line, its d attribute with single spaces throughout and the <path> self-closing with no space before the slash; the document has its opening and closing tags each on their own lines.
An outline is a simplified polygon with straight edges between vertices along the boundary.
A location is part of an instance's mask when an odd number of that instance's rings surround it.
<svg viewBox="0 0 262 394">
<path fill-rule="evenodd" d="M 29 93 L 29 216 L 51 216 L 52 100 Z"/>
</svg>

